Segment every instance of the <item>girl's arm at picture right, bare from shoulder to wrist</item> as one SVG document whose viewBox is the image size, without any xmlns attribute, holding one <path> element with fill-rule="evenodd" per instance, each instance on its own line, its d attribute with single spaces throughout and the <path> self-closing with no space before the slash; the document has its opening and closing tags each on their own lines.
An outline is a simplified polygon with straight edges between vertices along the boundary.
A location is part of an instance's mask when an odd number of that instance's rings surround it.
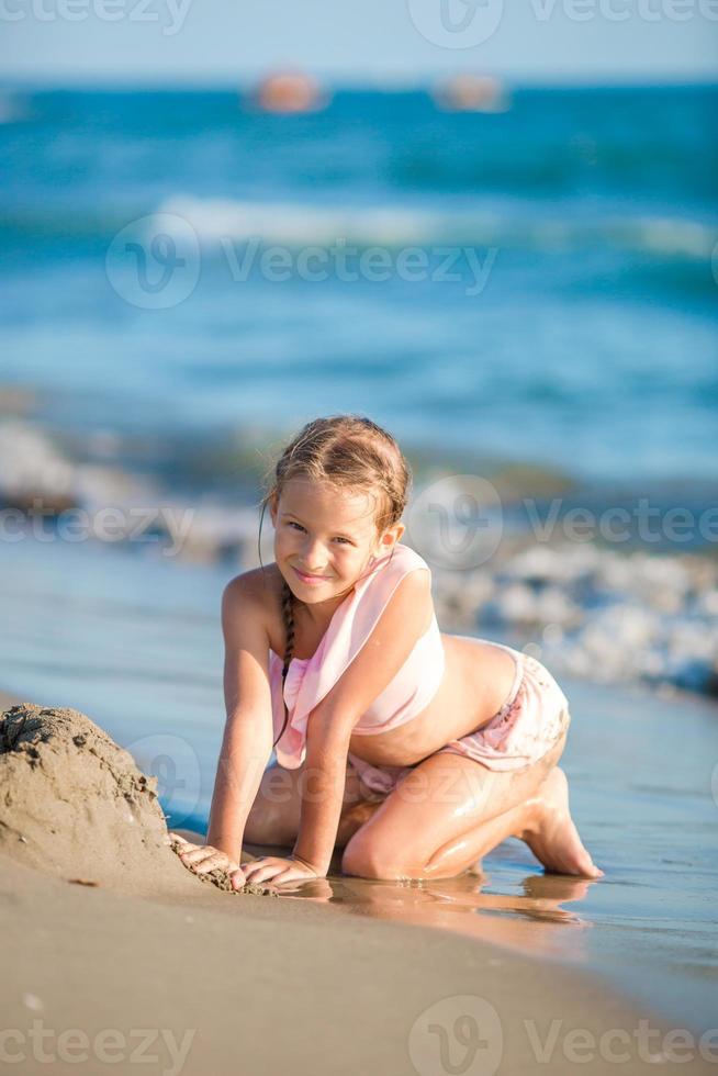
<svg viewBox="0 0 718 1076">
<path fill-rule="evenodd" d="M 306 776 L 294 854 L 321 873 L 328 870 L 339 828 L 351 731 L 428 630 L 433 615 L 429 572 L 410 572 L 396 586 L 362 648 L 310 714 Z"/>
</svg>

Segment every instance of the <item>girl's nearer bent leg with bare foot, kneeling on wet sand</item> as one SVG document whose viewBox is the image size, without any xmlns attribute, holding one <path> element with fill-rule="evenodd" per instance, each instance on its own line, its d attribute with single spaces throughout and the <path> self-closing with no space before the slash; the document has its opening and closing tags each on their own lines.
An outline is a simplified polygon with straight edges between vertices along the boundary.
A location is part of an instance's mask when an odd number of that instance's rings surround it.
<svg viewBox="0 0 718 1076">
<path fill-rule="evenodd" d="M 385 879 L 453 877 L 519 837 L 547 870 L 601 877 L 571 819 L 565 776 L 556 770 L 564 742 L 565 733 L 537 763 L 512 773 L 459 754 L 431 755 L 357 830 L 343 870 Z"/>
</svg>

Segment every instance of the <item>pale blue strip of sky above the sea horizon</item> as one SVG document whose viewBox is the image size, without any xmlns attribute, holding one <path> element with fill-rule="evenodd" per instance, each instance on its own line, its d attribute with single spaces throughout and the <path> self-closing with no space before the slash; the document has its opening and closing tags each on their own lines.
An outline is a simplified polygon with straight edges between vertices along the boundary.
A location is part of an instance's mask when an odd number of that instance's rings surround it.
<svg viewBox="0 0 718 1076">
<path fill-rule="evenodd" d="M 240 85 L 285 65 L 399 85 L 462 70 L 543 82 L 718 72 L 718 0 L 0 0 L 0 22 L 10 80 Z"/>
</svg>

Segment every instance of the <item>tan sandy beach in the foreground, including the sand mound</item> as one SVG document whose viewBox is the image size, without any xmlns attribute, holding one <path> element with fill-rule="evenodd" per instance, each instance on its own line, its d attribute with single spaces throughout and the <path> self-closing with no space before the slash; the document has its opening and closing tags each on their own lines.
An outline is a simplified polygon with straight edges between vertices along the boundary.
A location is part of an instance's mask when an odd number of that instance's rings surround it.
<svg viewBox="0 0 718 1076">
<path fill-rule="evenodd" d="M 415 926 L 408 901 L 347 916 L 332 872 L 308 899 L 200 881 L 156 778 L 76 710 L 23 704 L 0 731 L 3 1049 L 25 1071 L 713 1071 L 715 1036 L 576 968 Z"/>
</svg>

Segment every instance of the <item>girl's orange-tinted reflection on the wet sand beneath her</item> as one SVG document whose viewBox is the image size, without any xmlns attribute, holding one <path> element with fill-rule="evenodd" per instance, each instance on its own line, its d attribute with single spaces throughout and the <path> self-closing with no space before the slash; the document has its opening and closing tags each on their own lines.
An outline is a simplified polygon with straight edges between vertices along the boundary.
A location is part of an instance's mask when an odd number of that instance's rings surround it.
<svg viewBox="0 0 718 1076">
<path fill-rule="evenodd" d="M 253 858 L 290 852 L 245 845 L 245 851 L 249 850 Z M 524 954 L 572 961 L 586 955 L 580 931 L 572 930 L 569 938 L 561 928 L 592 924 L 563 905 L 583 900 L 594 882 L 565 875 L 527 874 L 520 883 L 523 892 L 512 895 L 484 892 L 490 882 L 487 871 L 480 864 L 455 878 L 434 881 L 378 882 L 350 877 L 340 873 L 340 854 L 335 853 L 326 878 L 290 882 L 274 888 L 284 900 L 313 900 L 330 904 L 348 915 L 451 930 Z"/>
</svg>

